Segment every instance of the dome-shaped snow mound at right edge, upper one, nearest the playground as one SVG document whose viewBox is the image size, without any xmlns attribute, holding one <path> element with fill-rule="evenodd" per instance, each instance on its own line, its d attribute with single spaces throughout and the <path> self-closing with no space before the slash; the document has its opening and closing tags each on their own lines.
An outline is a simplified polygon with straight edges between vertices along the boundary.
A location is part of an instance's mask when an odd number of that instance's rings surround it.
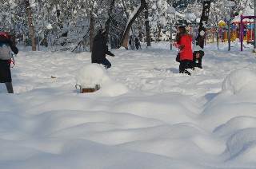
<svg viewBox="0 0 256 169">
<path fill-rule="evenodd" d="M 222 91 L 238 94 L 242 91 L 256 89 L 256 75 L 250 70 L 237 69 L 230 73 L 222 84 Z"/>
</svg>

